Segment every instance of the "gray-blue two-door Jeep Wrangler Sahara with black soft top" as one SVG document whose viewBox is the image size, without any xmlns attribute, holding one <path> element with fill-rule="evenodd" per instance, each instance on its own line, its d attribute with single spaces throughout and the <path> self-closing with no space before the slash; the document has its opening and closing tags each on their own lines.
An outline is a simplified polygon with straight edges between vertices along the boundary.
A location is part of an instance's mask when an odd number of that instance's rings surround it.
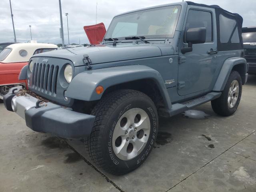
<svg viewBox="0 0 256 192">
<path fill-rule="evenodd" d="M 242 17 L 218 6 L 166 4 L 115 16 L 99 45 L 37 54 L 5 107 L 36 132 L 84 139 L 106 172 L 125 174 L 152 151 L 158 116 L 211 101 L 234 114 L 248 66 Z"/>
</svg>

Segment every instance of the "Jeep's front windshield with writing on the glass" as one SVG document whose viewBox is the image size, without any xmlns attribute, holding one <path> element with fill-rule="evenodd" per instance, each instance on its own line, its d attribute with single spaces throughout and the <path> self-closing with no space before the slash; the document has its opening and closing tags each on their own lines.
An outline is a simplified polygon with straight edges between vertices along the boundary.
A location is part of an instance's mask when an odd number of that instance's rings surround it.
<svg viewBox="0 0 256 192">
<path fill-rule="evenodd" d="M 180 5 L 166 6 L 116 16 L 108 28 L 105 39 L 124 40 L 129 36 L 173 38 L 180 9 Z"/>
</svg>

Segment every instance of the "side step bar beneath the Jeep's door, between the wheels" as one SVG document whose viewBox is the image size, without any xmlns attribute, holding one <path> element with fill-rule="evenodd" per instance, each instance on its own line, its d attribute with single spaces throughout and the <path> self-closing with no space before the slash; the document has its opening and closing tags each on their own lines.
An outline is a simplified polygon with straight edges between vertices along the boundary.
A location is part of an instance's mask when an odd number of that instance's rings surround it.
<svg viewBox="0 0 256 192">
<path fill-rule="evenodd" d="M 165 108 L 159 109 L 159 115 L 164 117 L 171 117 L 176 114 L 182 113 L 190 108 L 196 107 L 198 105 L 204 104 L 221 96 L 222 92 L 210 92 L 202 97 L 184 102 L 176 103 L 172 105 L 170 111 L 167 111 Z"/>
</svg>

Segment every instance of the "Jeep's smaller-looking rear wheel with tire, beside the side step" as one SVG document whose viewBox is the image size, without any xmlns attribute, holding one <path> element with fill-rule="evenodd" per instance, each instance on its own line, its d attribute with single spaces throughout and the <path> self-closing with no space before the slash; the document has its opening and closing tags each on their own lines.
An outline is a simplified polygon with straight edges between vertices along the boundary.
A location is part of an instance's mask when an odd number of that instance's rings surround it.
<svg viewBox="0 0 256 192">
<path fill-rule="evenodd" d="M 212 109 L 221 116 L 230 116 L 236 112 L 242 96 L 242 78 L 232 71 L 219 98 L 212 100 Z"/>
</svg>

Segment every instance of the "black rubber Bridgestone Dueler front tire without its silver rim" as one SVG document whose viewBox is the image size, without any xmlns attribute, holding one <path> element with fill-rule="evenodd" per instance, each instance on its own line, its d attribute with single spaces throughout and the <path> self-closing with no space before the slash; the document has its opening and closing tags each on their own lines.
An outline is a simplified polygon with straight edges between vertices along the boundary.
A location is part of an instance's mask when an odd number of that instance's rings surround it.
<svg viewBox="0 0 256 192">
<path fill-rule="evenodd" d="M 143 150 L 130 160 L 121 160 L 112 146 L 114 129 L 121 116 L 130 109 L 140 108 L 150 119 L 148 141 Z M 158 114 L 154 102 L 136 90 L 117 90 L 102 97 L 92 110 L 96 116 L 92 133 L 85 140 L 90 158 L 100 168 L 111 174 L 121 175 L 140 166 L 152 151 L 158 130 Z"/>
</svg>

